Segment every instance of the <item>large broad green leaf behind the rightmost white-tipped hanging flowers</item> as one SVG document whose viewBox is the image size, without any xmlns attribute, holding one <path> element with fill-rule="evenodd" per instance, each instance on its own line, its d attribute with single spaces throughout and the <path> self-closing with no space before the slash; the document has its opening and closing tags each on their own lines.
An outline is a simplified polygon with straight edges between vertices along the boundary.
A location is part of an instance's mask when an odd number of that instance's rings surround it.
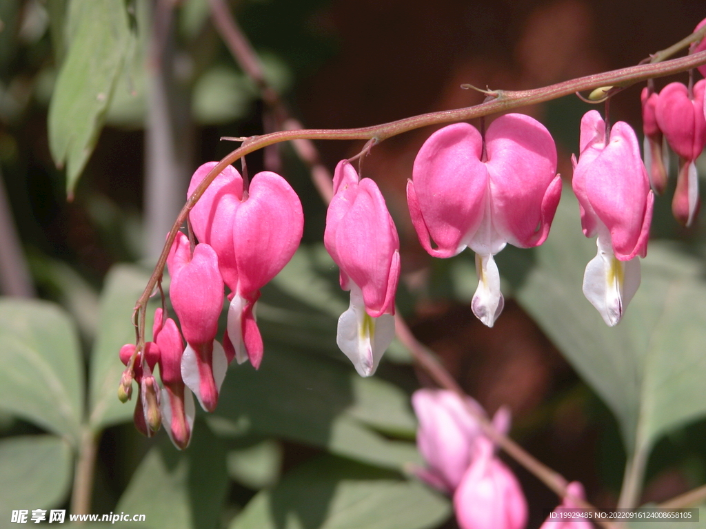
<svg viewBox="0 0 706 529">
<path fill-rule="evenodd" d="M 660 435 L 706 414 L 704 269 L 676 246 L 653 241 L 640 289 L 610 328 L 581 290 L 595 252 L 576 200 L 565 193 L 517 297 L 615 413 L 628 452 L 646 452 Z"/>
</svg>

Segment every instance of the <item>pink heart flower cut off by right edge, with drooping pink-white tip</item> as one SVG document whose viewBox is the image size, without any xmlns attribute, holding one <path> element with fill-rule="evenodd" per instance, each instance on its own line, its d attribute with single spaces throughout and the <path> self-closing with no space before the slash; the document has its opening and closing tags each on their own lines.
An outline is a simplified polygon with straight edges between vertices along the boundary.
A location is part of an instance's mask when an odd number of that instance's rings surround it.
<svg viewBox="0 0 706 529">
<path fill-rule="evenodd" d="M 679 156 L 679 175 L 671 209 L 681 224 L 690 226 L 699 209 L 699 180 L 695 159 L 706 145 L 702 79 L 689 90 L 683 83 L 669 83 L 659 92 L 655 114 L 669 146 Z"/>
</svg>

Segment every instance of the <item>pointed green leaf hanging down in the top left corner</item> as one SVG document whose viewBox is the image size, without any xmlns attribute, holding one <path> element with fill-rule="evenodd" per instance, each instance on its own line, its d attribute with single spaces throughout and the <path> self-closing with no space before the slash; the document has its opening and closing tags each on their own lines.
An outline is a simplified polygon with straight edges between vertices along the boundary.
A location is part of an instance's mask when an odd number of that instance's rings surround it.
<svg viewBox="0 0 706 529">
<path fill-rule="evenodd" d="M 72 0 L 70 40 L 49 104 L 49 149 L 69 196 L 98 140 L 131 40 L 124 0 Z"/>
</svg>

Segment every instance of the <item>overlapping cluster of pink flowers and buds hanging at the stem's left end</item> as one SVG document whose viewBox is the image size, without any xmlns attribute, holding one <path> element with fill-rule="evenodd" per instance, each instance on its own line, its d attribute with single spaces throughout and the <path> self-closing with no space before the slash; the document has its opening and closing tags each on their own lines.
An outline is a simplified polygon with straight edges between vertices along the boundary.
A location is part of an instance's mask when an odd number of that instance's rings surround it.
<svg viewBox="0 0 706 529">
<path fill-rule="evenodd" d="M 196 170 L 189 194 L 215 165 L 210 162 Z M 174 320 L 157 309 L 153 341 L 144 348 L 146 362 L 138 358 L 134 370 L 140 387 L 138 429 L 151 435 L 163 418 L 181 449 L 191 438 L 193 395 L 205 411 L 213 411 L 234 358 L 238 363 L 249 360 L 256 369 L 260 366 L 263 341 L 255 321 L 260 288 L 292 258 L 304 228 L 301 202 L 284 178 L 265 171 L 246 188 L 232 166 L 215 178 L 189 219 L 198 244 L 192 247 L 179 232 L 167 258 L 172 277 L 169 297 L 181 333 Z M 229 308 L 221 344 L 216 335 L 225 286 Z M 126 365 L 133 352 L 134 346 L 121 350 Z M 162 391 L 152 375 L 155 365 L 160 366 Z"/>
</svg>

